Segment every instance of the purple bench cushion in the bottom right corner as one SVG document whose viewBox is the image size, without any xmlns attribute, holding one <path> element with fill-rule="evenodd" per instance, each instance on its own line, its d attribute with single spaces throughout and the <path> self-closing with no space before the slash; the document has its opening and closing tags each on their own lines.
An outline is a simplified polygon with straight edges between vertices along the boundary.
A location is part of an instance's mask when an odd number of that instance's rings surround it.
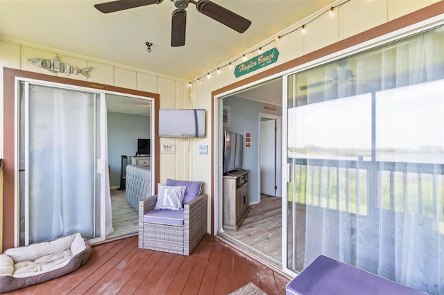
<svg viewBox="0 0 444 295">
<path fill-rule="evenodd" d="M 423 295 L 424 293 L 321 255 L 287 284 L 286 294 Z"/>
</svg>

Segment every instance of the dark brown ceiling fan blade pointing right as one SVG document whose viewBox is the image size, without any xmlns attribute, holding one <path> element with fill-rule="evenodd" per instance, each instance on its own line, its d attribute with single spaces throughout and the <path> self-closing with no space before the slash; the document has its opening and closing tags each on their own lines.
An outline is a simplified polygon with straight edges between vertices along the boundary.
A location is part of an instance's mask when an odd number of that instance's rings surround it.
<svg viewBox="0 0 444 295">
<path fill-rule="evenodd" d="M 237 15 L 227 8 L 219 6 L 214 2 L 210 2 L 209 0 L 198 1 L 196 3 L 196 8 L 198 12 L 219 21 L 221 24 L 224 24 L 239 33 L 244 33 L 251 24 L 251 21 L 248 19 Z"/>
</svg>

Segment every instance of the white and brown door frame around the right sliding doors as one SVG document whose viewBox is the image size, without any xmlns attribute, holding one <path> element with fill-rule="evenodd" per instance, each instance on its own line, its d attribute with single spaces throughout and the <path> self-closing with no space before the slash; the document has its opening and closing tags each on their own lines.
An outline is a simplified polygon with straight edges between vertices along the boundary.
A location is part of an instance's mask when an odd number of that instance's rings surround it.
<svg viewBox="0 0 444 295">
<path fill-rule="evenodd" d="M 257 84 L 262 84 L 274 78 L 282 78 L 282 271 L 291 276 L 296 273 L 287 268 L 287 163 L 285 157 L 287 155 L 287 78 L 291 73 L 301 71 L 302 69 L 309 69 L 309 67 L 316 66 L 331 60 L 345 57 L 353 53 L 364 51 L 367 48 L 372 48 L 380 44 L 385 44 L 393 39 L 399 39 L 407 35 L 413 35 L 419 31 L 426 30 L 433 26 L 438 26 L 443 22 L 441 17 L 441 3 L 434 3 L 430 6 L 412 12 L 409 15 L 404 15 L 388 21 L 381 26 L 370 28 L 362 33 L 358 33 L 352 37 L 348 37 L 334 44 L 330 44 L 317 51 L 312 51 L 293 60 L 284 62 L 266 71 L 259 71 L 244 80 L 239 80 L 228 84 L 225 87 L 215 89 L 212 91 L 212 184 L 213 195 L 211 204 L 212 234 L 217 235 L 219 232 L 219 224 L 222 225 L 221 217 L 221 199 L 222 199 L 222 167 L 221 167 L 221 98 L 229 96 L 232 93 L 243 91 L 249 87 Z M 285 189 L 284 189 L 285 188 Z"/>
</svg>

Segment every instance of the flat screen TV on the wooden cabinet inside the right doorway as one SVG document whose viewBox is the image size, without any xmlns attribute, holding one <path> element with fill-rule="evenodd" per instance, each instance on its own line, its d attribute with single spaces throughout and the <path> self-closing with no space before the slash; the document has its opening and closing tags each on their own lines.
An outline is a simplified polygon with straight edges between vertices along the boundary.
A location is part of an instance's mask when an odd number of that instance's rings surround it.
<svg viewBox="0 0 444 295">
<path fill-rule="evenodd" d="M 244 136 L 225 130 L 223 136 L 223 172 L 242 168 Z"/>
</svg>

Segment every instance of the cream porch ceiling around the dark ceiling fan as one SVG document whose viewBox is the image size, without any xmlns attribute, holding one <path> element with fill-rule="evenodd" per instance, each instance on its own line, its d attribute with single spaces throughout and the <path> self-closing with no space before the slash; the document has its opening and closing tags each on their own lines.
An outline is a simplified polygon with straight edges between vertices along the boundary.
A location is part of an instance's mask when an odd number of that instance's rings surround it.
<svg viewBox="0 0 444 295">
<path fill-rule="evenodd" d="M 173 3 L 103 14 L 102 0 L 0 0 L 0 36 L 191 80 L 257 46 L 332 0 L 214 0 L 252 21 L 245 33 L 187 8 L 186 44 L 171 47 Z M 151 53 L 145 42 L 153 43 Z"/>
</svg>

